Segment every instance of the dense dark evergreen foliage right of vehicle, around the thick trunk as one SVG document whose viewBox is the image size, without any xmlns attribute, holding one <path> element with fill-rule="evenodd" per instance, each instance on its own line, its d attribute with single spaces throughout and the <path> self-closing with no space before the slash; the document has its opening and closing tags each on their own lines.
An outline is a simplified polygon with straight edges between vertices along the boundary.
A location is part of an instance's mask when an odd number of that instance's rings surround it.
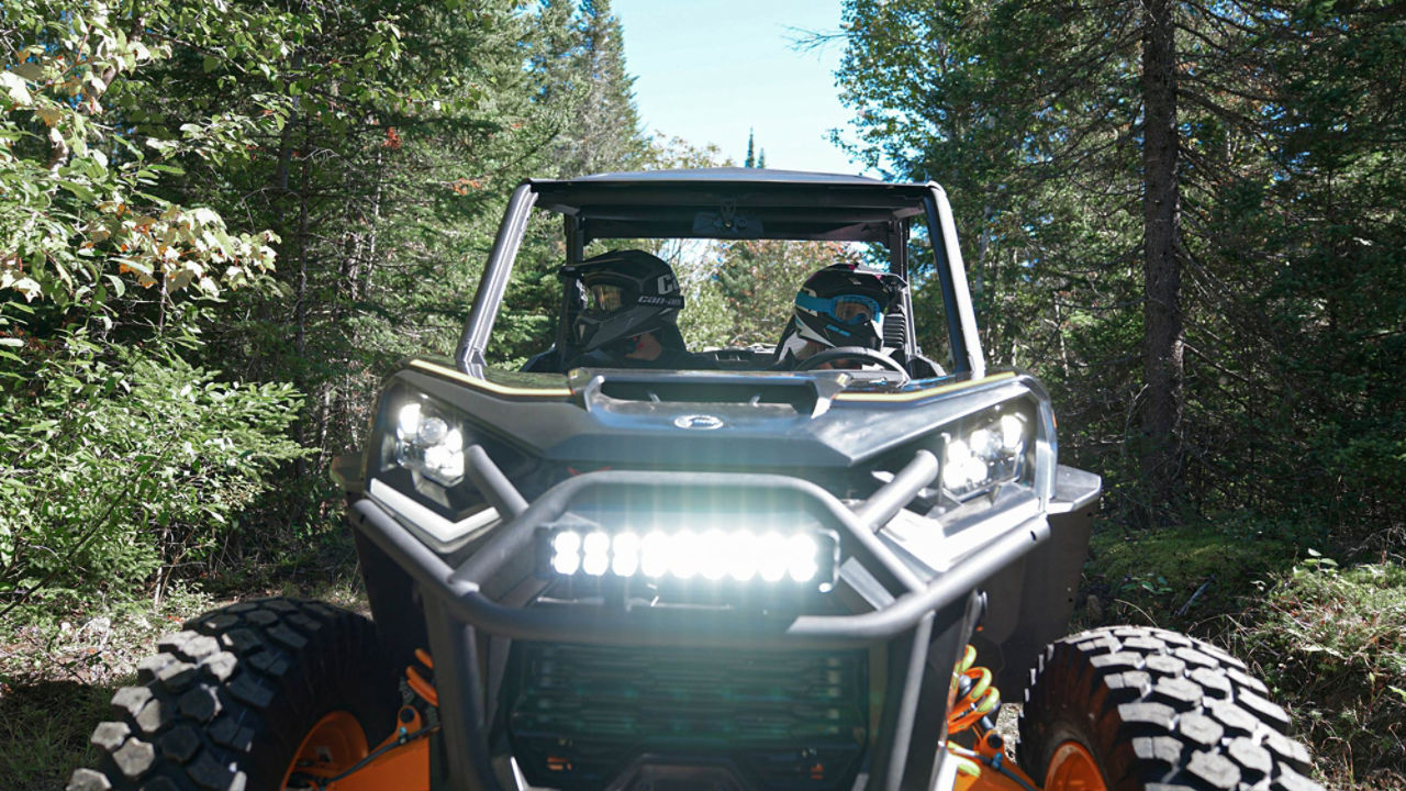
<svg viewBox="0 0 1406 791">
<path fill-rule="evenodd" d="M 1406 521 L 1399 15 L 1170 13 L 1185 403 L 1167 515 L 1250 510 L 1379 545 Z M 1136 4 L 849 0 L 838 75 L 853 152 L 953 196 L 988 356 L 1049 386 L 1063 459 L 1105 476 L 1121 521 L 1157 488 L 1137 464 L 1144 25 Z"/>
</svg>

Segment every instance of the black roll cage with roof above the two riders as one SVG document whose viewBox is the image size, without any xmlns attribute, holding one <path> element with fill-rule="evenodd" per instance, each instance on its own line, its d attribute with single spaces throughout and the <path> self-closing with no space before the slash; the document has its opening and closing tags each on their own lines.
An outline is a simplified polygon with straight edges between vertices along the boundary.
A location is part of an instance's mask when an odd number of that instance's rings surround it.
<svg viewBox="0 0 1406 791">
<path fill-rule="evenodd" d="M 976 332 L 952 205 L 941 186 L 741 167 L 529 179 L 519 184 L 508 203 L 454 353 L 456 365 L 467 374 L 482 376 L 486 366 L 494 319 L 529 215 L 537 205 L 562 215 L 568 265 L 581 263 L 585 246 L 595 239 L 856 241 L 883 243 L 889 249 L 890 272 L 904 280 L 910 273 L 910 227 L 921 217 L 934 239 L 934 273 L 942 286 L 952 373 L 984 376 L 986 359 Z M 562 286 L 554 338 L 558 349 L 565 346 L 564 332 L 574 307 L 569 286 Z M 912 357 L 921 350 L 911 319 L 911 290 L 904 291 L 903 311 L 910 317 L 904 352 Z"/>
</svg>

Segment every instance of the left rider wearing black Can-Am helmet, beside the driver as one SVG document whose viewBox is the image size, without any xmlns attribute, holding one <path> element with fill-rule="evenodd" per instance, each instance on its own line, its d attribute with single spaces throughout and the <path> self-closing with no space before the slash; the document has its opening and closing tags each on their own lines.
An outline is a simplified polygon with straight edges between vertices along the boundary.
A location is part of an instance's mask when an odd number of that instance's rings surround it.
<svg viewBox="0 0 1406 791">
<path fill-rule="evenodd" d="M 583 307 L 571 324 L 572 367 L 703 367 L 679 334 L 683 293 L 673 267 L 644 251 L 612 251 L 564 266 Z"/>
</svg>

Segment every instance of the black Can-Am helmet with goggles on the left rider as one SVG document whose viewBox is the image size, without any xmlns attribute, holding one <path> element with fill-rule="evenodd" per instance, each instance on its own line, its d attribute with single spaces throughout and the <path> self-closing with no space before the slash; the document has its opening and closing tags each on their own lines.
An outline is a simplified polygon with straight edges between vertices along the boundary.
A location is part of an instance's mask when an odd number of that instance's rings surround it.
<svg viewBox="0 0 1406 791">
<path fill-rule="evenodd" d="M 585 300 L 571 325 L 571 345 L 578 350 L 593 352 L 644 332 L 655 332 L 665 348 L 683 346 L 676 325 L 683 293 L 673 267 L 657 256 L 612 251 L 564 266 L 561 276 L 575 279 Z"/>
</svg>

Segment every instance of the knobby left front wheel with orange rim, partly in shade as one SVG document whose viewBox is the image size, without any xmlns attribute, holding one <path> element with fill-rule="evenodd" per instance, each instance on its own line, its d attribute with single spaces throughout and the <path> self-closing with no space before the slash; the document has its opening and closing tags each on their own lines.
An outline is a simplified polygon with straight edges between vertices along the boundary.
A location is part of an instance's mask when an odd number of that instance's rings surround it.
<svg viewBox="0 0 1406 791">
<path fill-rule="evenodd" d="M 69 791 L 284 788 L 333 774 L 395 725 L 395 676 L 370 621 L 266 598 L 207 612 L 142 662 L 93 732 L 100 759 Z"/>
</svg>

